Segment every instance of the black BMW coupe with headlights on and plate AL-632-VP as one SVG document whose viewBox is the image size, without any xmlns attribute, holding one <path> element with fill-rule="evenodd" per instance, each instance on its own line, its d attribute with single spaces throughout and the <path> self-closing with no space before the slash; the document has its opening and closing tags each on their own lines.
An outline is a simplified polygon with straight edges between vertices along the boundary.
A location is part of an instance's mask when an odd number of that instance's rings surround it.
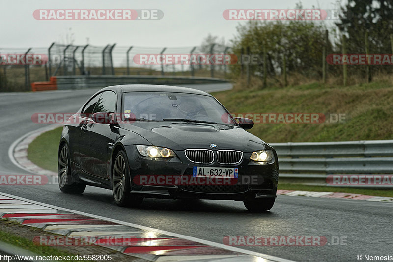
<svg viewBox="0 0 393 262">
<path fill-rule="evenodd" d="M 275 150 L 245 131 L 210 94 L 164 85 L 118 85 L 94 94 L 64 125 L 58 181 L 64 193 L 111 189 L 119 206 L 144 197 L 243 201 L 270 210 Z"/>
</svg>

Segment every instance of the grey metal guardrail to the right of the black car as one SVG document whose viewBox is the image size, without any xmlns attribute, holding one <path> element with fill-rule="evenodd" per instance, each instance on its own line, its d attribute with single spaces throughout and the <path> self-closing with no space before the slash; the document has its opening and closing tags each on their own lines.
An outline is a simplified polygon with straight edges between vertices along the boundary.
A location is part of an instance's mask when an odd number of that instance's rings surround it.
<svg viewBox="0 0 393 262">
<path fill-rule="evenodd" d="M 326 185 L 326 177 L 336 174 L 393 174 L 393 140 L 271 145 L 279 157 L 280 177 L 307 184 Z"/>
</svg>

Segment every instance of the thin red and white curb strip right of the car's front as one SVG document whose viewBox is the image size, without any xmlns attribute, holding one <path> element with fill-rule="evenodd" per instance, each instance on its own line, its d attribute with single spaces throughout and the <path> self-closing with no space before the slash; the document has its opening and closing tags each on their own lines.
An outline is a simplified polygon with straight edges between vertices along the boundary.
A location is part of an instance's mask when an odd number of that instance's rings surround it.
<svg viewBox="0 0 393 262">
<path fill-rule="evenodd" d="M 322 197 L 322 198 L 352 199 L 352 200 L 393 203 L 392 197 L 378 197 L 378 196 L 368 196 L 368 195 L 350 194 L 350 193 L 277 190 L 277 194 L 286 195 L 286 196 Z"/>
</svg>

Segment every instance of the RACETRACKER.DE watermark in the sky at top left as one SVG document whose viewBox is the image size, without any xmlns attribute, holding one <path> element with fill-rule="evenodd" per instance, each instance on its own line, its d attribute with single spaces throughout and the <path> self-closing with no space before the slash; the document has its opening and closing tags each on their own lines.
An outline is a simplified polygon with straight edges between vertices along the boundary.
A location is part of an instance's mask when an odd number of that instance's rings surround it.
<svg viewBox="0 0 393 262">
<path fill-rule="evenodd" d="M 159 9 L 37 9 L 37 20 L 160 20 Z"/>
</svg>

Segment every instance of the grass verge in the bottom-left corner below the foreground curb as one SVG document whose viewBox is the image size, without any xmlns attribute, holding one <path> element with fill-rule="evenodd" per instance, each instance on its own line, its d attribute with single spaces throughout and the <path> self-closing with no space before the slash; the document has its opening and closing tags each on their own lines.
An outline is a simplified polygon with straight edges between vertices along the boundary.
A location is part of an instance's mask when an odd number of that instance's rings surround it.
<svg viewBox="0 0 393 262">
<path fill-rule="evenodd" d="M 14 234 L 10 234 L 8 232 L 4 232 L 0 230 L 0 239 L 2 242 L 11 244 L 16 247 L 20 247 L 24 250 L 28 250 L 33 252 L 34 254 L 38 256 L 72 256 L 74 257 L 76 254 L 71 254 L 68 252 L 63 252 L 60 251 L 54 247 L 50 246 L 40 246 L 40 245 L 35 245 L 31 240 L 28 240 L 27 238 L 23 238 L 20 236 L 16 236 Z M 70 260 L 70 261 L 76 261 L 76 260 Z M 79 261 L 79 260 L 77 260 Z"/>
</svg>

